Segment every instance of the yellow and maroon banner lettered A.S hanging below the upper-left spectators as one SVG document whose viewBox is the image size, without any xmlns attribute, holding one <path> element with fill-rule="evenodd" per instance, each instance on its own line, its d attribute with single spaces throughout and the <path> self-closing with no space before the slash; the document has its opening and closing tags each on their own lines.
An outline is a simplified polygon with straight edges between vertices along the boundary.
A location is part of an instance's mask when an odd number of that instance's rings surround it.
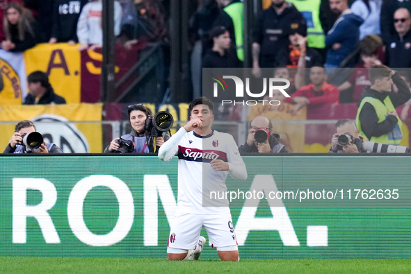
<svg viewBox="0 0 411 274">
<path fill-rule="evenodd" d="M 115 79 L 119 80 L 133 67 L 138 50 L 145 43 L 125 49 L 115 46 Z M 0 90 L 0 105 L 21 105 L 29 93 L 26 77 L 33 71 L 44 71 L 56 94 L 67 103 L 97 103 L 100 99 L 102 50 L 79 51 L 79 44 L 37 44 L 24 53 L 10 53 L 0 49 L 0 71 L 4 87 Z M 132 80 L 132 79 L 131 79 Z M 120 95 L 118 89 L 115 95 Z"/>
</svg>

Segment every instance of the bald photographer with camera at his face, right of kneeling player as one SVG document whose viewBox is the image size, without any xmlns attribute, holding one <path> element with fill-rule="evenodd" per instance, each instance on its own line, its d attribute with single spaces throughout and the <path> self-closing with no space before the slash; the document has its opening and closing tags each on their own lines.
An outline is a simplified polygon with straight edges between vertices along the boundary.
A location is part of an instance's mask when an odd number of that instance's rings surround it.
<svg viewBox="0 0 411 274">
<path fill-rule="evenodd" d="M 273 134 L 273 124 L 263 116 L 255 117 L 250 123 L 247 142 L 239 147 L 240 153 L 288 153 L 287 148 Z"/>
</svg>

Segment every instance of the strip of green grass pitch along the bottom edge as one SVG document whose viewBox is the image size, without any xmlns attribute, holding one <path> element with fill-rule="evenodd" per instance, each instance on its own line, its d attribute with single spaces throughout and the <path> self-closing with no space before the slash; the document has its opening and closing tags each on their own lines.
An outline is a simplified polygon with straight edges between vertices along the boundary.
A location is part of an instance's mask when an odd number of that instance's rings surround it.
<svg viewBox="0 0 411 274">
<path fill-rule="evenodd" d="M 0 257 L 0 273 L 411 273 L 411 259 L 166 259 Z"/>
</svg>

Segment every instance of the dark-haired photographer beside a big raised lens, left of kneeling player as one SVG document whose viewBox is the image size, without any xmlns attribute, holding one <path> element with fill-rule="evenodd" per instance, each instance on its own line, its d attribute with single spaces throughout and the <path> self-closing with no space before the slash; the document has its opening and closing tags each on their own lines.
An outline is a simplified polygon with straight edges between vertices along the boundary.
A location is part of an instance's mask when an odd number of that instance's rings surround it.
<svg viewBox="0 0 411 274">
<path fill-rule="evenodd" d="M 159 132 L 159 130 L 156 130 L 157 128 L 154 128 L 156 123 L 159 122 L 153 121 L 155 117 L 152 117 L 152 112 L 142 103 L 129 105 L 127 112 L 131 132 L 113 139 L 104 150 L 104 153 L 156 153 L 159 147 L 170 138 L 171 135 L 168 129 L 172 126 L 171 115 L 160 117 L 160 119 L 165 118 L 168 121 L 166 121 L 167 127 L 162 128 Z M 158 117 L 158 114 L 156 117 Z"/>
</svg>

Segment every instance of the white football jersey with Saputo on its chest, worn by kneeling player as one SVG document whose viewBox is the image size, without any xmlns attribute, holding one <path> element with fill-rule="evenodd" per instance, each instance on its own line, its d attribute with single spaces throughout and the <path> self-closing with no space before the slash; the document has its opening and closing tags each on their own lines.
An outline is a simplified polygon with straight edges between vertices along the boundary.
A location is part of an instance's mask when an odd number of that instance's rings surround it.
<svg viewBox="0 0 411 274">
<path fill-rule="evenodd" d="M 182 130 L 184 128 L 175 135 L 182 134 Z M 177 211 L 191 214 L 229 212 L 225 198 L 227 175 L 241 180 L 247 178 L 245 164 L 232 135 L 213 130 L 210 135 L 201 136 L 184 130 L 175 150 L 179 157 Z M 214 171 L 210 162 L 215 159 L 228 162 L 229 171 Z"/>
</svg>

